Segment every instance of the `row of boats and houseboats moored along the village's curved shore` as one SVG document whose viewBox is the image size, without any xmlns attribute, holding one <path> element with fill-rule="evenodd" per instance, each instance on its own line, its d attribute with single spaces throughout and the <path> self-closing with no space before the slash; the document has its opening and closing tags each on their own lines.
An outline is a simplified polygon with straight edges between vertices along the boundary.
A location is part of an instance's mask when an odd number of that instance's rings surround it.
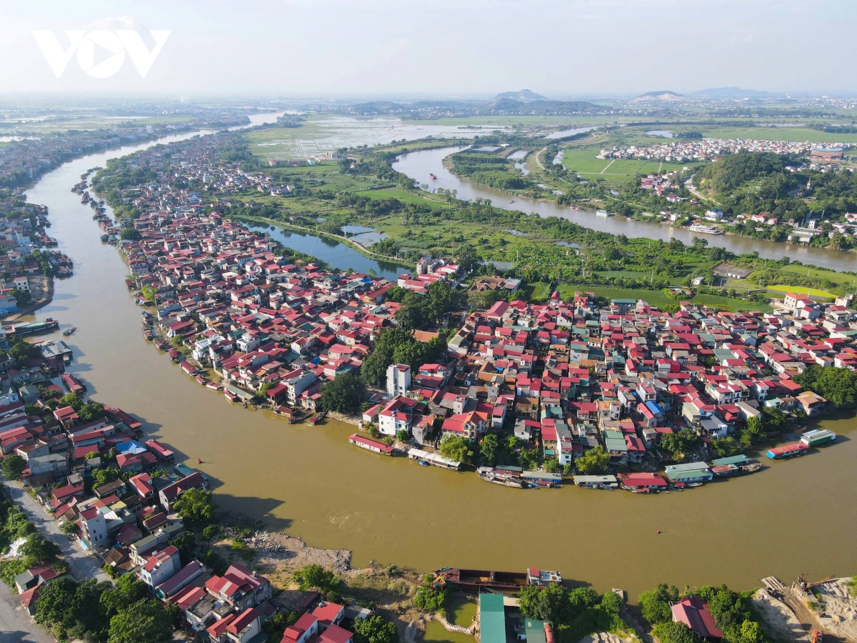
<svg viewBox="0 0 857 643">
<path fill-rule="evenodd" d="M 356 447 L 372 451 L 376 454 L 395 455 L 406 454 L 411 460 L 416 460 L 421 466 L 438 466 L 451 471 L 460 470 L 461 462 L 444 456 L 425 451 L 420 448 L 408 448 L 400 443 L 387 444 L 368 436 L 352 434 L 348 438 Z M 798 442 L 792 442 L 781 447 L 770 448 L 765 456 L 770 460 L 788 460 L 798 458 L 816 448 L 836 442 L 836 433 L 826 429 L 806 431 Z M 628 490 L 634 493 L 669 493 L 682 491 L 687 488 L 701 487 L 703 484 L 737 478 L 748 473 L 758 472 L 762 464 L 744 454 L 728 458 L 718 458 L 708 462 L 686 462 L 669 465 L 664 472 L 622 472 L 605 475 L 575 475 L 571 476 L 573 484 L 584 489 L 599 490 Z M 555 489 L 563 486 L 567 478 L 560 473 L 543 471 L 526 471 L 520 466 L 477 466 L 476 475 L 489 483 L 500 484 L 515 489 Z"/>
</svg>

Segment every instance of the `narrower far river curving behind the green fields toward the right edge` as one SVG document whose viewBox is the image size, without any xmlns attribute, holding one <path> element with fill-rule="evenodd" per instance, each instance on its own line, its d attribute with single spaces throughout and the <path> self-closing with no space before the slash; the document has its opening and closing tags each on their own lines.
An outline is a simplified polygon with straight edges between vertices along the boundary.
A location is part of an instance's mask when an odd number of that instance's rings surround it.
<svg viewBox="0 0 857 643">
<path fill-rule="evenodd" d="M 514 197 L 514 202 L 510 203 L 511 197 L 507 192 L 486 188 L 460 179 L 443 166 L 443 159 L 462 149 L 466 149 L 466 147 L 442 147 L 403 154 L 393 163 L 393 169 L 406 174 L 417 183 L 431 183 L 432 189 L 454 189 L 457 191 L 459 199 L 468 201 L 473 201 L 479 197 L 490 199 L 496 207 L 502 207 L 506 210 L 521 210 L 528 214 L 535 213 L 542 218 L 561 217 L 592 230 L 624 234 L 626 237 L 648 237 L 664 241 L 680 239 L 682 243 L 688 245 L 693 243 L 694 237 L 700 237 L 708 241 L 710 246 L 720 246 L 737 255 L 757 250 L 758 255 L 764 259 L 776 260 L 782 256 L 788 256 L 793 261 L 802 261 L 833 270 L 857 270 L 857 253 L 854 252 L 810 248 L 806 245 L 799 246 L 792 243 L 774 243 L 764 239 L 737 237 L 735 235 L 697 234 L 673 225 L 647 223 L 618 216 L 596 219 L 594 212 L 572 210 L 567 206 L 560 206 L 550 201 L 538 201 L 518 195 Z M 429 181 L 429 174 L 434 174 L 437 179 Z M 573 239 L 566 239 L 566 241 L 573 241 Z"/>
</svg>

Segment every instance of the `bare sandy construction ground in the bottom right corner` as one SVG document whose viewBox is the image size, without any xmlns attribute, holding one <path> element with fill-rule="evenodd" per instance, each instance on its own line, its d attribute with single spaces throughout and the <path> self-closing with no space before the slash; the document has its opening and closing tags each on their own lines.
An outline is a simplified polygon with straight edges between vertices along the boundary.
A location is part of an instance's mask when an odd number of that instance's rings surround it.
<svg viewBox="0 0 857 643">
<path fill-rule="evenodd" d="M 852 594 L 852 579 L 831 576 L 807 582 L 801 575 L 785 586 L 769 576 L 762 582 L 764 587 L 753 596 L 753 604 L 776 638 L 857 643 L 857 597 Z"/>
</svg>

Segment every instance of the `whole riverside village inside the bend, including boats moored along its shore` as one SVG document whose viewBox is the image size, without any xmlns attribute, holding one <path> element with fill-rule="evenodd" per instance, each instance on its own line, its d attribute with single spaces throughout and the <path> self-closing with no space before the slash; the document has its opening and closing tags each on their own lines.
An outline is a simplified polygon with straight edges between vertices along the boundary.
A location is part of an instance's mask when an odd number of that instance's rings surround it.
<svg viewBox="0 0 857 643">
<path fill-rule="evenodd" d="M 261 173 L 220 163 L 214 139 L 129 157 L 131 167 L 158 168 L 161 180 L 123 190 L 134 219 L 96 218 L 127 257 L 147 339 L 231 402 L 321 422 L 325 384 L 360 373 L 379 335 L 397 327 L 402 304 L 388 291 L 424 295 L 466 275 L 450 259 L 425 257 L 393 283 L 291 256 L 225 219 L 219 207 L 229 201 L 171 189 L 177 171 L 221 190 L 272 189 Z M 386 387 L 370 388 L 363 411 L 345 418 L 363 430 L 351 442 L 459 469 L 477 462 L 450 457 L 445 443 L 513 435 L 536 460 L 481 460 L 480 477 L 537 489 L 577 474 L 580 486 L 650 493 L 758 471 L 741 453 L 751 436 L 794 436 L 785 451 L 766 452 L 772 459 L 836 439 L 794 434 L 835 406 L 794 376 L 812 365 L 853 368 L 853 297 L 820 304 L 789 293 L 772 313 L 681 303 L 667 314 L 639 299 L 598 305 L 595 292 L 531 304 L 515 298 L 518 285 L 476 280 L 471 287 L 498 294 L 492 307 L 448 310 L 446 328 L 413 331 L 423 343 L 444 331 L 445 351 L 387 364 Z"/>
</svg>

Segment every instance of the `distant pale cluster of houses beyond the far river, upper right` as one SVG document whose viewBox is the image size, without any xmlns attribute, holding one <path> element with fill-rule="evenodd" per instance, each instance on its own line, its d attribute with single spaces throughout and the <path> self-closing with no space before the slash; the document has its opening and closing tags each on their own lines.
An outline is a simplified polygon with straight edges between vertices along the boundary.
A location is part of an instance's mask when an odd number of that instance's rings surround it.
<svg viewBox="0 0 857 643">
<path fill-rule="evenodd" d="M 811 147 L 812 144 L 809 142 L 758 141 L 741 138 L 674 139 L 651 145 L 614 146 L 610 149 L 602 149 L 597 158 L 648 159 L 687 163 L 714 159 L 721 154 L 736 153 L 741 149 L 746 149 L 748 152 L 804 154 L 809 152 Z"/>
</svg>

